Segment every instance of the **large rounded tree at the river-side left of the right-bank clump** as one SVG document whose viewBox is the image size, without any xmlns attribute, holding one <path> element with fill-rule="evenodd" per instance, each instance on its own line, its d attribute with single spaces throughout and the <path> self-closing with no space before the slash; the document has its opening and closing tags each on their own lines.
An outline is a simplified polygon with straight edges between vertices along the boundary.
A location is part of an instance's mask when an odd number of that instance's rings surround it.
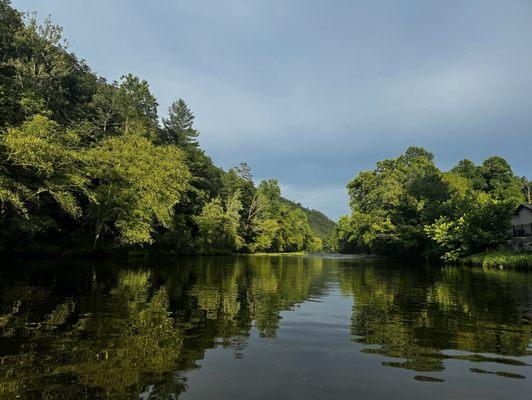
<svg viewBox="0 0 532 400">
<path fill-rule="evenodd" d="M 384 254 L 414 255 L 428 240 L 432 223 L 448 198 L 447 184 L 432 153 L 411 147 L 397 159 L 377 163 L 347 185 L 354 232 L 349 242 Z"/>
</svg>

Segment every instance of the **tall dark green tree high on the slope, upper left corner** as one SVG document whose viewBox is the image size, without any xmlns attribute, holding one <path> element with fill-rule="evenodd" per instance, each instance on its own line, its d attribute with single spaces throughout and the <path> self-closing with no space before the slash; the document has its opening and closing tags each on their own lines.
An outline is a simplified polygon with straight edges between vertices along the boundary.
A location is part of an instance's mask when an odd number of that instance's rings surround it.
<svg viewBox="0 0 532 400">
<path fill-rule="evenodd" d="M 8 52 L 2 62 L 6 95 L 12 96 L 6 122 L 18 124 L 35 114 L 49 115 L 63 125 L 82 118 L 95 78 L 68 53 L 62 28 L 49 18 L 39 25 L 36 15 L 28 14 L 12 40 L 16 51 Z"/>
</svg>

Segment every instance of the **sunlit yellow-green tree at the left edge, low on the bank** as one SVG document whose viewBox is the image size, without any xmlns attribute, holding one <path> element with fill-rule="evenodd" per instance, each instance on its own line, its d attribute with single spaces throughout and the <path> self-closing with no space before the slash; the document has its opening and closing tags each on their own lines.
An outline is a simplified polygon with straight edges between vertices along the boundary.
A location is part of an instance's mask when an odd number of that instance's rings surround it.
<svg viewBox="0 0 532 400">
<path fill-rule="evenodd" d="M 0 135 L 3 218 L 33 235 L 57 227 L 59 212 L 80 217 L 87 180 L 78 144 L 73 132 L 42 115 Z"/>
</svg>

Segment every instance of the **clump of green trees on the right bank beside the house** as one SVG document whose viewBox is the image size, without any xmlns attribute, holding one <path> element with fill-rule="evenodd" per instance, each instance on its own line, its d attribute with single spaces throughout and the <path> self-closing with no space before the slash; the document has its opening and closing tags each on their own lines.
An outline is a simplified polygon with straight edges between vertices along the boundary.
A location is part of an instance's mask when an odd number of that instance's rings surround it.
<svg viewBox="0 0 532 400">
<path fill-rule="evenodd" d="M 332 250 L 457 260 L 506 242 L 515 207 L 531 183 L 501 157 L 462 160 L 440 171 L 433 154 L 410 147 L 347 185 L 351 214 L 329 238 Z"/>
</svg>

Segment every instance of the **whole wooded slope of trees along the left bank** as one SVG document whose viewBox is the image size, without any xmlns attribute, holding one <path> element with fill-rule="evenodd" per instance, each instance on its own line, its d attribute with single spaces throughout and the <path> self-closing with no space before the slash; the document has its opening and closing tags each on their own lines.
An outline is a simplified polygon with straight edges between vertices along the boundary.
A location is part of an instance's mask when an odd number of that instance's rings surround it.
<svg viewBox="0 0 532 400">
<path fill-rule="evenodd" d="M 106 82 L 61 28 L 0 0 L 0 251 L 317 251 L 305 213 L 199 147 L 183 100 Z"/>
</svg>

